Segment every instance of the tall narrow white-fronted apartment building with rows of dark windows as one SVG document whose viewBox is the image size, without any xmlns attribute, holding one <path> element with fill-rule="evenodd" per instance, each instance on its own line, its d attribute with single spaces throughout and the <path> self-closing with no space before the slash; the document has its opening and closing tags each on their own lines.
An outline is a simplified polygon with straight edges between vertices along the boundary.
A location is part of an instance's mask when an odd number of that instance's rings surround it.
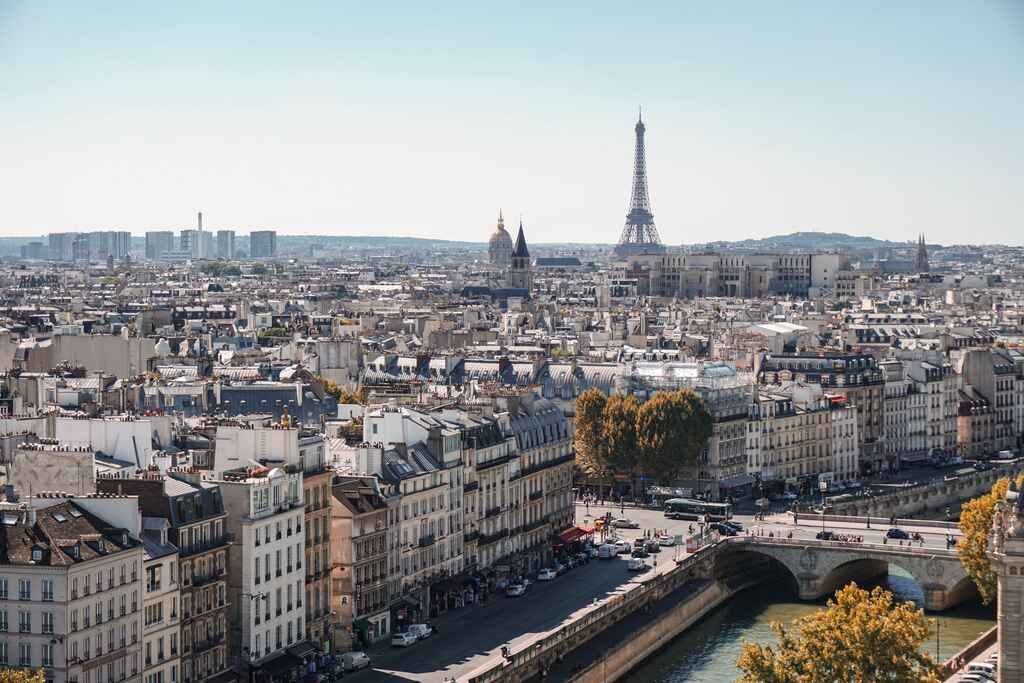
<svg viewBox="0 0 1024 683">
<path fill-rule="evenodd" d="M 217 479 L 232 539 L 231 645 L 257 680 L 279 680 L 315 652 L 305 629 L 302 467 L 272 465 Z"/>
</svg>

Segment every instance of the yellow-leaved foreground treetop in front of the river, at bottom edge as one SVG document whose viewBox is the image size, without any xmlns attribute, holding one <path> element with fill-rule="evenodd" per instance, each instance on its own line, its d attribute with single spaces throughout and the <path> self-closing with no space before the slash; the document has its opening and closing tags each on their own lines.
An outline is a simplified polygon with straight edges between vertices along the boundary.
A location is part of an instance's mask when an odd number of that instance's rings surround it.
<svg viewBox="0 0 1024 683">
<path fill-rule="evenodd" d="M 743 643 L 736 683 L 938 683 L 921 645 L 931 629 L 924 609 L 876 587 L 850 584 L 824 609 L 790 629 L 772 624 L 778 644 Z"/>
</svg>

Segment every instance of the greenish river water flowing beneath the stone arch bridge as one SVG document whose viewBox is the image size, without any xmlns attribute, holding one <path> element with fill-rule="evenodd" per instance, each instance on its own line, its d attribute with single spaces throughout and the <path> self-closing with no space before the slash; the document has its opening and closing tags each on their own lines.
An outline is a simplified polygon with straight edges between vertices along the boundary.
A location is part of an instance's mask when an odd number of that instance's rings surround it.
<svg viewBox="0 0 1024 683">
<path fill-rule="evenodd" d="M 921 588 L 901 569 L 893 568 L 882 585 L 903 599 L 921 604 Z M 773 591 L 762 584 L 737 595 L 708 614 L 668 647 L 634 670 L 628 683 L 729 683 L 739 675 L 736 659 L 742 643 L 774 643 L 770 624 L 793 620 L 821 609 L 824 601 L 802 602 L 788 589 Z M 953 609 L 929 614 L 939 620 L 939 661 L 955 654 L 965 645 L 995 624 L 993 608 L 980 603 L 962 604 Z M 935 656 L 933 638 L 923 648 Z"/>
</svg>

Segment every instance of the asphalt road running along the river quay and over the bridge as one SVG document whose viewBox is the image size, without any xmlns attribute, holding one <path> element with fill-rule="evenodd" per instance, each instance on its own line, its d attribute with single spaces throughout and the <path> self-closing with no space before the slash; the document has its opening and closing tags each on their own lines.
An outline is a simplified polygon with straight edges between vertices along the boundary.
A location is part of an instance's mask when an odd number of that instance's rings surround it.
<svg viewBox="0 0 1024 683">
<path fill-rule="evenodd" d="M 624 516 L 618 507 L 585 506 L 578 504 L 578 523 L 589 525 L 606 512 L 613 516 Z M 616 533 L 629 541 L 643 536 L 645 530 L 664 529 L 670 535 L 687 536 L 696 523 L 685 520 L 666 519 L 663 512 L 642 508 L 626 507 L 625 516 L 637 521 L 639 529 L 616 529 Z M 750 533 L 813 540 L 821 530 L 821 523 L 813 516 L 801 517 L 794 523 L 788 513 L 770 515 L 764 521 L 756 521 L 753 515 L 736 515 Z M 862 536 L 865 543 L 882 543 L 885 528 L 867 529 L 863 524 L 826 523 L 825 527 L 839 533 Z M 925 547 L 944 548 L 946 530 L 932 527 L 903 526 L 907 531 L 921 531 Z M 896 542 L 890 542 L 896 543 Z M 915 546 L 918 544 L 914 544 Z M 673 565 L 673 557 L 682 557 L 682 548 L 666 548 L 647 560 L 656 561 L 656 571 L 668 571 Z M 423 681 L 442 683 L 445 678 L 459 677 L 478 669 L 486 661 L 501 656 L 502 645 L 509 645 L 512 651 L 525 646 L 539 634 L 551 631 L 561 623 L 573 618 L 593 607 L 595 601 L 608 598 L 616 593 L 630 590 L 642 578 L 629 572 L 622 559 L 613 561 L 594 560 L 572 569 L 551 582 L 538 582 L 519 598 L 498 596 L 487 604 L 477 604 L 457 609 L 433 620 L 437 633 L 429 639 L 409 648 L 392 648 L 386 643 L 370 650 L 371 668 L 353 675 L 355 681 L 367 683 L 394 681 Z"/>
</svg>

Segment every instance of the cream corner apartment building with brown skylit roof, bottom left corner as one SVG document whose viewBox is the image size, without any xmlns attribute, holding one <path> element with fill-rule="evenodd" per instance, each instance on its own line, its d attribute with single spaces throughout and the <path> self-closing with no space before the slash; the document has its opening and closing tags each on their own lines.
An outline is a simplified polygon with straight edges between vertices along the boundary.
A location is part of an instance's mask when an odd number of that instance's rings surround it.
<svg viewBox="0 0 1024 683">
<path fill-rule="evenodd" d="M 142 543 L 133 497 L 0 504 L 0 667 L 48 681 L 141 681 Z"/>
</svg>

